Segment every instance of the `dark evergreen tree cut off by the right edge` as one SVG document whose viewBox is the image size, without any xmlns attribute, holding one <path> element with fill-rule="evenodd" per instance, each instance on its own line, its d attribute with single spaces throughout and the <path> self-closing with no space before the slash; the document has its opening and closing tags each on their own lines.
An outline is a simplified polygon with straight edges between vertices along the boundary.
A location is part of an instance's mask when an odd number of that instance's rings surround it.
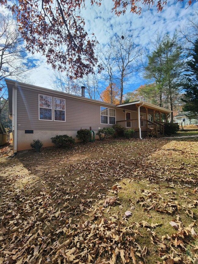
<svg viewBox="0 0 198 264">
<path fill-rule="evenodd" d="M 187 62 L 185 94 L 182 101 L 185 103 L 183 110 L 190 111 L 192 115 L 198 115 L 198 39 L 190 53 L 191 59 Z"/>
</svg>

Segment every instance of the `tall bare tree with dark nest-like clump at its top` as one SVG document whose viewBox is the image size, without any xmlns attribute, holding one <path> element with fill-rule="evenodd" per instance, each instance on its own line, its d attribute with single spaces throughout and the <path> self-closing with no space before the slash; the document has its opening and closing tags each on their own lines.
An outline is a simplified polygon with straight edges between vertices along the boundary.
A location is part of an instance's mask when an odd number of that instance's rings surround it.
<svg viewBox="0 0 198 264">
<path fill-rule="evenodd" d="M 115 64 L 117 68 L 116 79 L 120 85 L 120 104 L 124 91 L 124 83 L 140 70 L 140 56 L 142 50 L 140 46 L 133 41 L 133 32 L 130 35 L 122 33 L 122 36 L 116 35 L 111 39 L 111 48 L 114 53 Z"/>
</svg>

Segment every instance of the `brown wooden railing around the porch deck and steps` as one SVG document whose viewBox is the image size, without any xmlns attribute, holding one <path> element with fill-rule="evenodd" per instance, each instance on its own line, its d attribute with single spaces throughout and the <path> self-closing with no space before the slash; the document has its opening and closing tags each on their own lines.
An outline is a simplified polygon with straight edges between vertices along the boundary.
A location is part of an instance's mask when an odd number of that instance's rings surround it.
<svg viewBox="0 0 198 264">
<path fill-rule="evenodd" d="M 116 124 L 122 125 L 123 128 L 133 128 L 133 129 L 139 129 L 138 127 L 138 119 L 129 119 L 129 120 L 121 120 L 116 121 Z M 157 137 L 158 132 L 161 135 L 164 135 L 164 125 L 160 122 L 151 122 L 147 119 L 140 119 L 140 127 L 141 129 L 146 129 L 151 136 Z"/>
</svg>

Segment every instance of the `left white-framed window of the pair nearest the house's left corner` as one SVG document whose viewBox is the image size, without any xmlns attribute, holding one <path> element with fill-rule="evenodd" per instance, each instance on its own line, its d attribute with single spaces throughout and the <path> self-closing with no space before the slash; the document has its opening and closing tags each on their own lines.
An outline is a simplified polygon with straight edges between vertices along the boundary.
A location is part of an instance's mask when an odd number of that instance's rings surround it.
<svg viewBox="0 0 198 264">
<path fill-rule="evenodd" d="M 52 120 L 52 97 L 39 94 L 39 119 Z"/>
</svg>

